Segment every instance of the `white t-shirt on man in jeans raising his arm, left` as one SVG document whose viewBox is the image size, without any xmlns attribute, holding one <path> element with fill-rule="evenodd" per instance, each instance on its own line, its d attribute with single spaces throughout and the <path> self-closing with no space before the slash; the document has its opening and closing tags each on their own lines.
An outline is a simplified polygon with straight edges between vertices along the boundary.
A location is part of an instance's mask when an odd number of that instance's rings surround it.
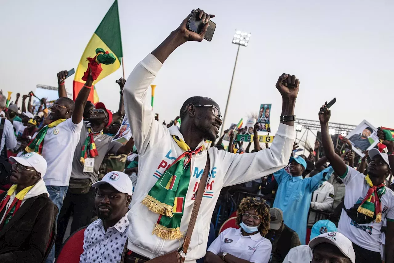
<svg viewBox="0 0 394 263">
<path fill-rule="evenodd" d="M 81 137 L 83 121 L 74 124 L 71 118 L 49 128 L 44 139 L 42 156 L 48 167 L 45 185 L 68 186 L 71 176 L 72 158 Z"/>
</svg>

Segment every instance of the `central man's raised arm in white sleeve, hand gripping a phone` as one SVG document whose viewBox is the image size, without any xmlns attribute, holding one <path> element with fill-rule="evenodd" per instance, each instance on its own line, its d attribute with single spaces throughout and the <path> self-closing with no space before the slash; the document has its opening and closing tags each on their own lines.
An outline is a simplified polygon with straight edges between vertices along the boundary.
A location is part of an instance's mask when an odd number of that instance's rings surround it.
<svg viewBox="0 0 394 263">
<path fill-rule="evenodd" d="M 201 19 L 206 22 L 210 17 L 214 17 L 203 11 L 200 14 Z M 188 17 L 169 34 L 163 43 L 139 62 L 125 83 L 123 89 L 125 111 L 139 154 L 144 154 L 147 147 L 152 147 L 168 133 L 168 129 L 154 119 L 151 103 L 148 102 L 149 85 L 154 81 L 164 61 L 177 47 L 186 41 L 203 41 L 204 39 L 208 23 L 201 33 L 197 34 L 186 28 L 187 21 Z"/>
</svg>

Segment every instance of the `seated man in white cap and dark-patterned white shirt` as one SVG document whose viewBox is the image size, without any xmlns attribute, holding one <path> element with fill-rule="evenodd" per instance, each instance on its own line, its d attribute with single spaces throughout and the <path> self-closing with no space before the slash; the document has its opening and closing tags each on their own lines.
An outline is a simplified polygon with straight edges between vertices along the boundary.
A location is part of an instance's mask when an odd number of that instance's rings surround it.
<svg viewBox="0 0 394 263">
<path fill-rule="evenodd" d="M 112 171 L 92 186 L 98 188 L 95 207 L 99 219 L 85 230 L 80 263 L 120 262 L 127 239 L 133 184 L 125 173 Z"/>
</svg>

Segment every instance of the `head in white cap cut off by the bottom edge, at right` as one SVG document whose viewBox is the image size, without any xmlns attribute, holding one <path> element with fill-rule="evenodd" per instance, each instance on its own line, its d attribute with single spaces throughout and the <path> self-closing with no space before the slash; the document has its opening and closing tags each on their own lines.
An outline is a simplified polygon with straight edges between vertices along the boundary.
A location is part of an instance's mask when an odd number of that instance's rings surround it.
<svg viewBox="0 0 394 263">
<path fill-rule="evenodd" d="M 318 235 L 310 240 L 309 247 L 313 253 L 311 263 L 356 262 L 356 254 L 354 253 L 352 242 L 339 232 L 334 231 Z"/>
</svg>

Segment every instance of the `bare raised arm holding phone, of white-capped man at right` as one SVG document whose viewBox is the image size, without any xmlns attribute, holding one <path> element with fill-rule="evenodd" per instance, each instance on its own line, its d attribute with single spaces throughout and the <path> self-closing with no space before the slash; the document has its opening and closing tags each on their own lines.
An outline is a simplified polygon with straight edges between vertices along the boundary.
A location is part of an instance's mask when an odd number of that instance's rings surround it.
<svg viewBox="0 0 394 263">
<path fill-rule="evenodd" d="M 331 111 L 325 107 L 327 102 L 320 108 L 319 120 L 322 129 L 322 145 L 327 160 L 331 163 L 334 171 L 338 176 L 343 176 L 348 169 L 344 161 L 335 153 L 334 143 L 328 131 L 328 122 L 331 117 Z"/>
</svg>

